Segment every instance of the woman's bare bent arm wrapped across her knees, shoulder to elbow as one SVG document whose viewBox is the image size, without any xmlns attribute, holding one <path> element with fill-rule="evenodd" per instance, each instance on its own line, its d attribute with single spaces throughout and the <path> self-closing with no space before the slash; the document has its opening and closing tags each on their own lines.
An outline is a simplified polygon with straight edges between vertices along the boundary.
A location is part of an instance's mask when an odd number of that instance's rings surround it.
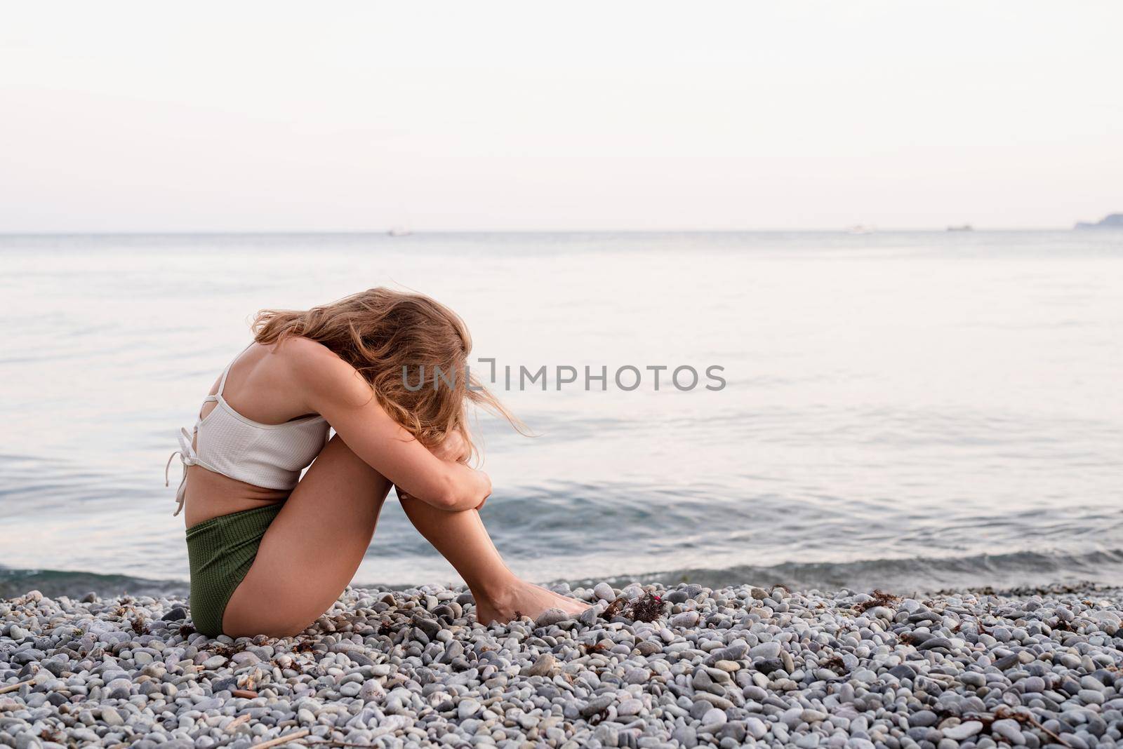
<svg viewBox="0 0 1123 749">
<path fill-rule="evenodd" d="M 323 416 L 356 455 L 407 493 L 445 510 L 478 507 L 491 493 L 486 473 L 429 452 L 378 405 L 355 368 L 329 349 L 305 339 L 283 348 L 308 410 Z"/>
</svg>

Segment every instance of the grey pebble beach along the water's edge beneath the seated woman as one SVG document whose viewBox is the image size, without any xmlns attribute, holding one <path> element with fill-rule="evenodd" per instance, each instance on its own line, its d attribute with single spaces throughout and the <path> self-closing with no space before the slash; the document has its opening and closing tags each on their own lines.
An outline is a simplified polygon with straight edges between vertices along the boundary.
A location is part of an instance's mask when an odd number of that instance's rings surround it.
<svg viewBox="0 0 1123 749">
<path fill-rule="evenodd" d="M 347 589 L 294 638 L 208 638 L 185 601 L 0 602 L 0 745 L 1114 747 L 1123 589 L 916 598 L 739 585 Z"/>
</svg>

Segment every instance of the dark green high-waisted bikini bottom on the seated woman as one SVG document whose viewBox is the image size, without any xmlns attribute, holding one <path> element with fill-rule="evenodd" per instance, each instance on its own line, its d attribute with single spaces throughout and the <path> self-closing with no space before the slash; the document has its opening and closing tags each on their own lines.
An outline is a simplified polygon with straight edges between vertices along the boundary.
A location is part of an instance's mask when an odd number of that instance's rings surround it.
<svg viewBox="0 0 1123 749">
<path fill-rule="evenodd" d="M 188 528 L 191 619 L 208 637 L 222 634 L 222 613 L 249 572 L 262 536 L 284 502 L 220 515 Z"/>
</svg>

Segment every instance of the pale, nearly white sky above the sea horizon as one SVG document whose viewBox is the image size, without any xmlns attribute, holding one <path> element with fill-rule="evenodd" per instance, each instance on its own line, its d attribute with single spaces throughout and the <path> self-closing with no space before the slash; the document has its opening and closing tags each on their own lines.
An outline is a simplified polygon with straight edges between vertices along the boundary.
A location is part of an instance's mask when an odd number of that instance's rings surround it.
<svg viewBox="0 0 1123 749">
<path fill-rule="evenodd" d="M 0 232 L 1067 228 L 1119 2 L 0 0 Z"/>
</svg>

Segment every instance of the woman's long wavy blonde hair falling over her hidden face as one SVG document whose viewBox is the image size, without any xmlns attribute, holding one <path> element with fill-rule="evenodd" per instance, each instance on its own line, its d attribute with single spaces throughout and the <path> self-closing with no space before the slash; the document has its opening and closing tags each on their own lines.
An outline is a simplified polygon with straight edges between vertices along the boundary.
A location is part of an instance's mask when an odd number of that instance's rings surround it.
<svg viewBox="0 0 1123 749">
<path fill-rule="evenodd" d="M 386 413 L 430 450 L 459 432 L 471 455 L 478 456 L 467 427 L 468 401 L 526 433 L 469 374 L 472 336 L 464 321 L 421 294 L 380 286 L 307 311 L 262 309 L 253 330 L 263 344 L 300 336 L 330 349 L 363 376 Z"/>
</svg>

